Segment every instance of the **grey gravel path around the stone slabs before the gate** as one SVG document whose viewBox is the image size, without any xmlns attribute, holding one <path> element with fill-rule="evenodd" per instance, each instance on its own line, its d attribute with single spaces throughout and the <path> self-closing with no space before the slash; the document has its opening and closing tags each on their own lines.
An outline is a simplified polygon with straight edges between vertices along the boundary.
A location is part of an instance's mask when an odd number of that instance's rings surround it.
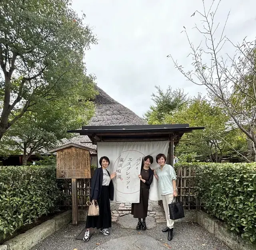
<svg viewBox="0 0 256 250">
<path fill-rule="evenodd" d="M 161 231 L 165 226 L 165 223 L 159 223 L 154 229 L 138 232 L 133 229 L 122 229 L 116 223 L 113 223 L 109 236 L 104 236 L 96 231 L 88 242 L 84 242 L 75 238 L 85 227 L 85 223 L 80 223 L 78 226 L 68 224 L 65 228 L 60 229 L 40 242 L 32 250 L 91 250 L 110 239 L 128 235 L 141 235 L 142 238 L 151 236 L 163 244 L 167 244 L 169 249 L 175 250 L 230 250 L 224 243 L 216 239 L 213 234 L 206 232 L 196 223 L 176 222 L 174 225 L 174 238 L 171 242 L 168 242 L 167 233 Z M 134 225 L 135 227 L 136 225 Z M 120 249 L 124 249 L 124 247 L 120 246 Z"/>
</svg>

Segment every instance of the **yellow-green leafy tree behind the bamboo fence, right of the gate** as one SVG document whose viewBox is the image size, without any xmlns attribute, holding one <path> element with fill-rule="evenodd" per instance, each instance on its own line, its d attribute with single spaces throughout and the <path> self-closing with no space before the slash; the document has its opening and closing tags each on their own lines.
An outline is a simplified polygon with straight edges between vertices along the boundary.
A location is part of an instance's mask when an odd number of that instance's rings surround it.
<svg viewBox="0 0 256 250">
<path fill-rule="evenodd" d="M 188 142 L 180 142 L 176 147 L 178 155 L 196 152 L 201 159 L 220 162 L 229 149 L 227 135 L 230 117 L 222 109 L 211 104 L 200 95 L 192 99 L 186 107 L 166 116 L 166 123 L 189 123 L 191 127 L 205 127 L 182 137 Z"/>
</svg>

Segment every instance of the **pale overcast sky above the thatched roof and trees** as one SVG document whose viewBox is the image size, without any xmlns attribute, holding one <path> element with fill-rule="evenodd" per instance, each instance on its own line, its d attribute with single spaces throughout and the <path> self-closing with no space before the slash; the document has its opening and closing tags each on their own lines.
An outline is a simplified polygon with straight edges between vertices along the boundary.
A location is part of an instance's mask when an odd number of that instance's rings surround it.
<svg viewBox="0 0 256 250">
<path fill-rule="evenodd" d="M 211 0 L 205 0 L 211 3 Z M 243 2 L 243 3 L 242 3 Z M 185 67 L 190 50 L 183 26 L 190 39 L 198 44 L 202 37 L 196 32 L 201 0 L 73 0 L 72 8 L 86 14 L 86 22 L 98 36 L 98 45 L 86 53 L 88 73 L 108 95 L 136 114 L 148 109 L 154 86 L 166 89 L 171 85 L 184 88 L 191 96 L 206 94 L 203 87 L 186 81 L 175 68 L 168 54 Z M 230 11 L 225 34 L 232 42 L 256 35 L 256 1 L 222 0 L 216 22 L 224 24 Z M 232 53 L 228 47 L 226 52 Z"/>
</svg>

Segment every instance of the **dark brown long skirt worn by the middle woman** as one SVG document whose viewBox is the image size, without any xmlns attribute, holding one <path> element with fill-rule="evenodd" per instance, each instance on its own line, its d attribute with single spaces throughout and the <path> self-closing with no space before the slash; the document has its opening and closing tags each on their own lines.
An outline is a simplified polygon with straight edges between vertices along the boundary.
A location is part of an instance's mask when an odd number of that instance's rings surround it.
<svg viewBox="0 0 256 250">
<path fill-rule="evenodd" d="M 134 218 L 146 218 L 148 215 L 148 188 L 140 188 L 140 203 L 132 203 L 132 211 Z"/>
</svg>

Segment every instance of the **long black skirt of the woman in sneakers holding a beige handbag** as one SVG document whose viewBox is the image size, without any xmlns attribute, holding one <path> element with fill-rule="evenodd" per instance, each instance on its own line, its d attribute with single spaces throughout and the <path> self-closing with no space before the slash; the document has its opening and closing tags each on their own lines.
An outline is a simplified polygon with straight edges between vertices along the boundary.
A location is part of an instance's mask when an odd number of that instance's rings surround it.
<svg viewBox="0 0 256 250">
<path fill-rule="evenodd" d="M 99 216 L 87 216 L 86 228 L 110 228 L 111 227 L 111 210 L 108 186 L 102 186 L 100 200 L 97 200 L 100 210 Z"/>
</svg>

